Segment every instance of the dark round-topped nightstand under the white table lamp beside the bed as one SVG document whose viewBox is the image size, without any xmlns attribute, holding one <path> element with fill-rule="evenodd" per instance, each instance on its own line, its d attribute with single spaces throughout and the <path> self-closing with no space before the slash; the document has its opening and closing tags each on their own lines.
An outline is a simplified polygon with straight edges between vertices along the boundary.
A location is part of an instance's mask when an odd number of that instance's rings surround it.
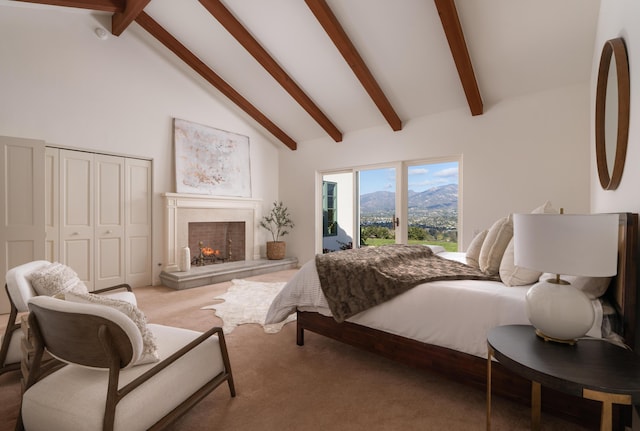
<svg viewBox="0 0 640 431">
<path fill-rule="evenodd" d="M 487 336 L 487 430 L 491 429 L 491 358 L 531 380 L 531 429 L 540 429 L 540 387 L 602 402 L 601 430 L 613 404 L 640 404 L 640 356 L 604 340 L 573 346 L 542 340 L 526 325 L 498 326 Z"/>
</svg>

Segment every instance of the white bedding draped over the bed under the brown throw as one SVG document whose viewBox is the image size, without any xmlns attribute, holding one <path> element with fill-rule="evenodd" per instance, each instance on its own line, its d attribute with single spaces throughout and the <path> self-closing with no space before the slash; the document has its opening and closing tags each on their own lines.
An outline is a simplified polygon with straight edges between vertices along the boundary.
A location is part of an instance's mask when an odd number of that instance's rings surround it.
<svg viewBox="0 0 640 431">
<path fill-rule="evenodd" d="M 464 262 L 464 253 L 439 253 Z M 497 281 L 451 280 L 420 284 L 391 300 L 347 319 L 428 344 L 487 357 L 487 332 L 499 325 L 528 325 L 525 295 L 530 286 L 507 287 Z M 602 306 L 588 335 L 601 337 Z M 296 309 L 331 316 L 315 259 L 300 268 L 274 299 L 266 323 L 286 319 Z"/>
</svg>

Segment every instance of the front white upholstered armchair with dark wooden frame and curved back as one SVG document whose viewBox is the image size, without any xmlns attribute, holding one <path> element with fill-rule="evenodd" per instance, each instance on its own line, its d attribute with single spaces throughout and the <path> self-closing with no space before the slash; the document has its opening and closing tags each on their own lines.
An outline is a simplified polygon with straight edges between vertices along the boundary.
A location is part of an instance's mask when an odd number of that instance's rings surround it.
<svg viewBox="0 0 640 431">
<path fill-rule="evenodd" d="M 221 328 L 145 324 L 106 305 L 29 300 L 35 356 L 18 429 L 162 429 L 224 382 L 235 396 Z M 155 338 L 149 357 L 144 331 Z M 65 364 L 44 366 L 44 352 Z"/>
</svg>

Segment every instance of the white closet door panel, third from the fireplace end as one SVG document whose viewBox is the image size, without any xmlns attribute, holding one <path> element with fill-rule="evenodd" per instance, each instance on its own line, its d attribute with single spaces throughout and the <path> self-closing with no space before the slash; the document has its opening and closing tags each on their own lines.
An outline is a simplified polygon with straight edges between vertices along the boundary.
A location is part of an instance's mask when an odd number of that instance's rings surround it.
<svg viewBox="0 0 640 431">
<path fill-rule="evenodd" d="M 93 154 L 60 150 L 60 260 L 94 289 Z"/>
</svg>

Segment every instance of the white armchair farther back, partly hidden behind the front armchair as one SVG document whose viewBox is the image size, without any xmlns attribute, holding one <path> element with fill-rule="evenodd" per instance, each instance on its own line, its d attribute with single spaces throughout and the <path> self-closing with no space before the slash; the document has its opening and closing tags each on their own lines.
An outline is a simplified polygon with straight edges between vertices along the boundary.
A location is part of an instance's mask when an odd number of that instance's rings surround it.
<svg viewBox="0 0 640 431">
<path fill-rule="evenodd" d="M 49 261 L 36 260 L 18 265 L 7 271 L 5 290 L 9 297 L 11 309 L 7 327 L 2 336 L 2 343 L 0 344 L 0 374 L 20 369 L 20 361 L 22 359 L 22 351 L 20 349 L 22 332 L 18 330 L 20 329 L 18 315 L 27 312 L 29 299 L 39 294 L 33 287 L 30 275 L 36 272 L 44 272 L 53 266 L 54 264 Z M 43 294 L 45 293 L 44 291 L 42 292 Z M 128 284 L 119 284 L 94 291 L 93 293 L 102 293 L 112 298 L 118 298 L 134 305 L 136 304 L 136 297 Z"/>
</svg>

